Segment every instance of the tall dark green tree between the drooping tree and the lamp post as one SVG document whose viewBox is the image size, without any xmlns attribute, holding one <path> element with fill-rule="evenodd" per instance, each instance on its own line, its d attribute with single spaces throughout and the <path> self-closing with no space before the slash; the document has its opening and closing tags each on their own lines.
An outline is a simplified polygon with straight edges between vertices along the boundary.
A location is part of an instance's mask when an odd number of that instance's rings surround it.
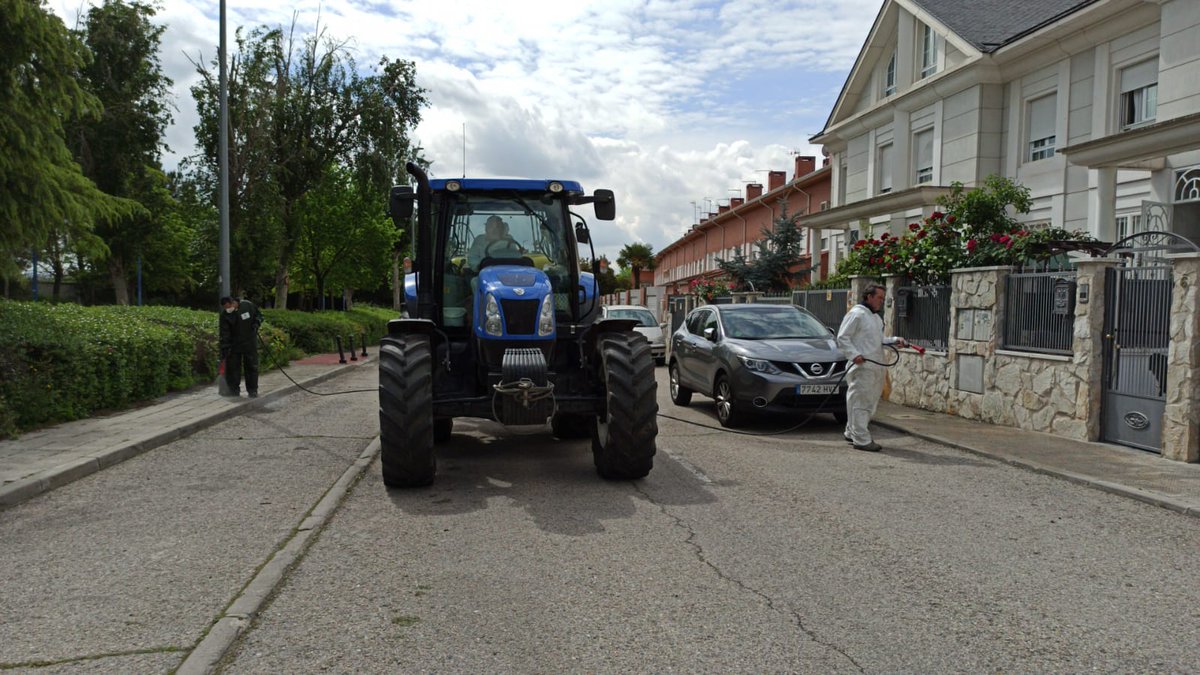
<svg viewBox="0 0 1200 675">
<path fill-rule="evenodd" d="M 108 195 L 133 199 L 152 209 L 100 219 L 96 234 L 104 240 L 108 277 L 118 304 L 130 304 L 128 280 L 134 263 L 144 268 L 178 267 L 186 243 L 170 234 L 174 203 L 161 171 L 163 133 L 170 124 L 170 79 L 158 61 L 163 26 L 151 23 L 155 8 L 138 0 L 104 0 L 92 7 L 78 32 L 91 52 L 83 68 L 85 86 L 100 100 L 98 118 L 80 119 L 68 138 L 88 175 Z M 152 261 L 155 252 L 175 261 Z M 184 277 L 162 280 L 175 286 Z"/>
</svg>

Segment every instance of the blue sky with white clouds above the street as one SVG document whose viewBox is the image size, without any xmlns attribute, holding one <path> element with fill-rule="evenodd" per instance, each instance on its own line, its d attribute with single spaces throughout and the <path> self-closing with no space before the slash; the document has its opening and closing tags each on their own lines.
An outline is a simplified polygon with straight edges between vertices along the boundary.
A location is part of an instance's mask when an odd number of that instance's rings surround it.
<svg viewBox="0 0 1200 675">
<path fill-rule="evenodd" d="M 83 6 L 86 6 L 84 0 Z M 598 253 L 655 251 L 696 214 L 792 178 L 882 0 L 228 0 L 235 26 L 318 25 L 360 66 L 416 64 L 431 102 L 416 141 L 434 177 L 564 178 L 617 193 Z M 74 25 L 78 0 L 50 0 Z M 168 166 L 194 153 L 191 60 L 217 50 L 217 0 L 160 0 L 175 86 Z M 230 47 L 230 50 L 233 47 Z M 380 196 L 380 199 L 383 197 Z"/>
</svg>

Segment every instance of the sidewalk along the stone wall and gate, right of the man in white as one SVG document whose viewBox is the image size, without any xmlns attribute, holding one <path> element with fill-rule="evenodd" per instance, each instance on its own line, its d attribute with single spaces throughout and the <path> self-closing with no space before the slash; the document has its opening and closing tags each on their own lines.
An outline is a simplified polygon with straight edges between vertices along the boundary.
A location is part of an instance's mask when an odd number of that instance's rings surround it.
<svg viewBox="0 0 1200 675">
<path fill-rule="evenodd" d="M 1123 446 L 1072 441 L 888 401 L 880 402 L 874 422 L 918 438 L 1200 516 L 1200 464 L 1170 461 Z"/>
</svg>

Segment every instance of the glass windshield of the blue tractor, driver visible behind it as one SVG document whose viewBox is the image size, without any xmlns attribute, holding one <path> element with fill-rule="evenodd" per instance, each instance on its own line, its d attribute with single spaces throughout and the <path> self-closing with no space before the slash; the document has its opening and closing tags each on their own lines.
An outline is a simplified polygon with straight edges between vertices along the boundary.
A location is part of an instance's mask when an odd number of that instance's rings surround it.
<svg viewBox="0 0 1200 675">
<path fill-rule="evenodd" d="M 448 325 L 470 307 L 472 280 L 493 263 L 532 264 L 546 273 L 559 309 L 570 285 L 568 226 L 563 203 L 542 193 L 454 193 L 444 204 L 440 227 L 446 238 L 443 307 Z M 467 312 L 462 312 L 466 319 Z"/>
</svg>

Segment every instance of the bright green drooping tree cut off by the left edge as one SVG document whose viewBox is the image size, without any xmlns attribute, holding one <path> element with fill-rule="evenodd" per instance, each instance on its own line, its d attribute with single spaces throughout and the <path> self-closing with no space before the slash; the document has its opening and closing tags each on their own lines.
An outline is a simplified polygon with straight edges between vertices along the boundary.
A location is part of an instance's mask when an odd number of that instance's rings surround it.
<svg viewBox="0 0 1200 675">
<path fill-rule="evenodd" d="M 55 235 L 96 255 L 97 219 L 138 213 L 137 204 L 101 192 L 79 168 L 65 125 L 100 114 L 82 85 L 88 52 L 47 11 L 44 2 L 0 0 L 0 274 L 16 271 L 14 256 Z"/>
</svg>

